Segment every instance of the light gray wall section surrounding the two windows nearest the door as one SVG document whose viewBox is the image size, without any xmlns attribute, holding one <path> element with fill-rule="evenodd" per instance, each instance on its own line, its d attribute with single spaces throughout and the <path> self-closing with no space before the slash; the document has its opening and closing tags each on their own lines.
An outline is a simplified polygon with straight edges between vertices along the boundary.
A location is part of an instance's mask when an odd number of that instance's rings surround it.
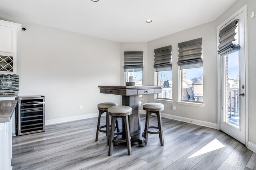
<svg viewBox="0 0 256 170">
<path fill-rule="evenodd" d="M 163 113 L 217 123 L 216 26 L 209 22 L 148 42 L 148 83 L 154 83 L 154 49 L 172 45 L 172 104 L 164 104 Z M 177 103 L 179 94 L 178 43 L 200 38 L 203 41 L 204 107 Z M 150 101 L 150 100 L 149 100 Z M 172 105 L 176 110 L 172 110 Z"/>
</svg>

